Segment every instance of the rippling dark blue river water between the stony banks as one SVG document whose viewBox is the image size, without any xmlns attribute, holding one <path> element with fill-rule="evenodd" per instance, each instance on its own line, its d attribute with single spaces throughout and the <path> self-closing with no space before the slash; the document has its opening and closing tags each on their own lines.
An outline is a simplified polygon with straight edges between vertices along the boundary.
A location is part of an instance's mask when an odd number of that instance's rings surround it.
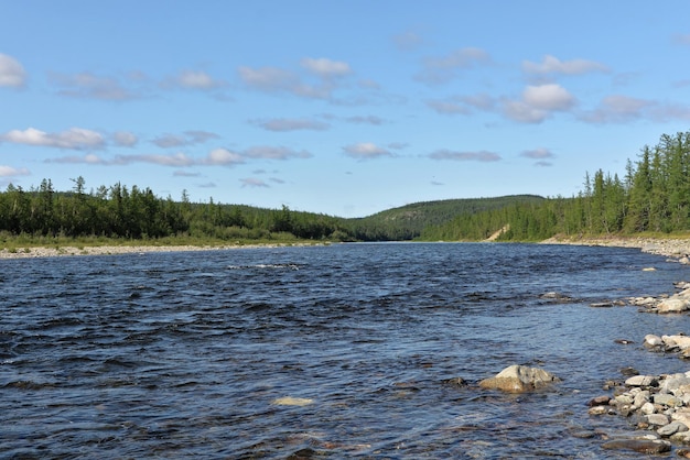
<svg viewBox="0 0 690 460">
<path fill-rule="evenodd" d="M 590 304 L 671 293 L 688 270 L 442 243 L 0 261 L 0 456 L 629 458 L 601 449 L 627 421 L 586 402 L 628 365 L 686 371 L 642 340 L 689 319 Z M 476 386 L 510 364 L 563 382 Z"/>
</svg>

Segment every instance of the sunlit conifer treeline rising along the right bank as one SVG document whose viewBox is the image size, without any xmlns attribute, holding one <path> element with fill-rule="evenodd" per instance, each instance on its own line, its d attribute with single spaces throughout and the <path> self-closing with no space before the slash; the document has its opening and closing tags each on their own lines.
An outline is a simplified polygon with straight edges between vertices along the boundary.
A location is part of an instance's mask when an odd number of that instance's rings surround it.
<svg viewBox="0 0 690 460">
<path fill-rule="evenodd" d="M 459 215 L 425 228 L 421 239 L 478 241 L 498 229 L 505 229 L 499 239 L 506 241 L 690 230 L 690 132 L 664 134 L 644 146 L 635 162 L 627 161 L 623 177 L 602 169 L 586 174 L 575 197 Z"/>
</svg>

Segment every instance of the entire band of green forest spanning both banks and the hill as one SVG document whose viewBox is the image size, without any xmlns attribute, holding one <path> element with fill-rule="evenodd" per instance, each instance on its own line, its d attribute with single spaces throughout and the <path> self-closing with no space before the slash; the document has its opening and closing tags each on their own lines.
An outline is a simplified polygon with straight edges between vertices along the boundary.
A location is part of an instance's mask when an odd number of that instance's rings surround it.
<svg viewBox="0 0 690 460">
<path fill-rule="evenodd" d="M 0 241 L 12 238 L 172 239 L 204 242 L 538 241 L 553 236 L 632 236 L 690 230 L 690 132 L 664 134 L 628 160 L 623 176 L 584 173 L 573 197 L 533 195 L 427 201 L 346 219 L 322 213 L 161 198 L 150 188 L 83 177 L 71 190 L 50 179 L 0 193 Z"/>
</svg>

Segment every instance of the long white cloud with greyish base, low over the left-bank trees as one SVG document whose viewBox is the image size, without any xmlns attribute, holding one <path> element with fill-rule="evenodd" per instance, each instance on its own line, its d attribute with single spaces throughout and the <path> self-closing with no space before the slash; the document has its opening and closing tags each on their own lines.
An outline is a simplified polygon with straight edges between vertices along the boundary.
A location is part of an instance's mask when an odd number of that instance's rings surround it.
<svg viewBox="0 0 690 460">
<path fill-rule="evenodd" d="M 71 128 L 60 133 L 47 133 L 34 128 L 24 131 L 12 130 L 0 135 L 0 140 L 15 144 L 72 150 L 103 149 L 106 143 L 100 133 L 83 128 Z"/>
</svg>

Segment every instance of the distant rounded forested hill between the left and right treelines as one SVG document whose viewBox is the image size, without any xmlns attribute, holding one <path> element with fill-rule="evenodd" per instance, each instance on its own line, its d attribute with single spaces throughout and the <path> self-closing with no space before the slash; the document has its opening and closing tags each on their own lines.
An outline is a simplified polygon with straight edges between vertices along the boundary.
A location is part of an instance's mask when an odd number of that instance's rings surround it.
<svg viewBox="0 0 690 460">
<path fill-rule="evenodd" d="M 496 198 L 422 201 L 364 218 L 346 219 L 346 222 L 357 240 L 405 241 L 418 238 L 425 228 L 443 226 L 460 215 L 477 213 L 515 204 L 538 204 L 545 199 L 537 195 L 510 195 Z"/>
</svg>

